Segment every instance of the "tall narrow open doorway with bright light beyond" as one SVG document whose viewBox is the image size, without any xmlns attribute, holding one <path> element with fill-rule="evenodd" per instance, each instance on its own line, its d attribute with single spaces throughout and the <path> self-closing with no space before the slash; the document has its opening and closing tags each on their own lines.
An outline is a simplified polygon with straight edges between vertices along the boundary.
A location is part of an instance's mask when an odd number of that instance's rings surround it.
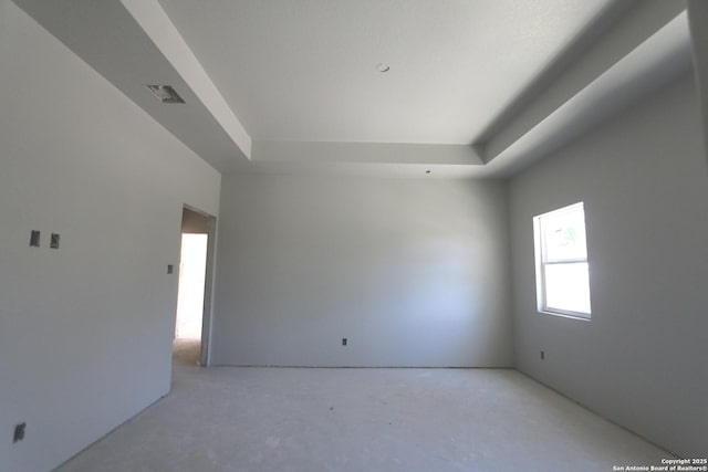
<svg viewBox="0 0 708 472">
<path fill-rule="evenodd" d="M 177 289 L 173 361 L 184 366 L 209 363 L 211 268 L 216 218 L 185 206 Z"/>
</svg>

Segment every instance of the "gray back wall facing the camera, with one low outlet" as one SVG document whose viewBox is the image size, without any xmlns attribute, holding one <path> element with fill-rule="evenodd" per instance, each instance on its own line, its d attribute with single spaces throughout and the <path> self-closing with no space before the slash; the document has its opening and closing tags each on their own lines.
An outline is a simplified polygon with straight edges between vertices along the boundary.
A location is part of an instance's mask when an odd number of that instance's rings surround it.
<svg viewBox="0 0 708 472">
<path fill-rule="evenodd" d="M 506 190 L 225 176 L 214 361 L 510 366 Z"/>
</svg>

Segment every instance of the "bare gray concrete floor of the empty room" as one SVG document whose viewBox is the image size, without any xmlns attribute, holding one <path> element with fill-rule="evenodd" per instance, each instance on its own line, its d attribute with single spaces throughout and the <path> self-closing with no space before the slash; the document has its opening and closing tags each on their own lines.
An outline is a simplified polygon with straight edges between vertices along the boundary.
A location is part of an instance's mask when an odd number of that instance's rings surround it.
<svg viewBox="0 0 708 472">
<path fill-rule="evenodd" d="M 59 469 L 612 471 L 666 451 L 514 370 L 196 367 Z"/>
</svg>

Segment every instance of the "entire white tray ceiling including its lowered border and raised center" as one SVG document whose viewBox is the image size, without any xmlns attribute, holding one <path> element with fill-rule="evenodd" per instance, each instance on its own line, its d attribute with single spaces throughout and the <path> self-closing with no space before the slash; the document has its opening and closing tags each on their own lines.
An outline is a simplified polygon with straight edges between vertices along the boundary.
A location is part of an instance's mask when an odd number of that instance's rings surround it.
<svg viewBox="0 0 708 472">
<path fill-rule="evenodd" d="M 12 1 L 225 172 L 503 177 L 691 67 L 678 0 Z"/>
</svg>

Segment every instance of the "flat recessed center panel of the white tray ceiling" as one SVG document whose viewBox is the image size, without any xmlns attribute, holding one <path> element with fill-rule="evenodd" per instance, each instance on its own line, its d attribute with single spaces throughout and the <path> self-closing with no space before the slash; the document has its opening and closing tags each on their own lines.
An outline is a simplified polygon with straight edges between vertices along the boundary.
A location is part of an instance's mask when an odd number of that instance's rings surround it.
<svg viewBox="0 0 708 472">
<path fill-rule="evenodd" d="M 254 140 L 471 144 L 613 1 L 160 4 Z"/>
</svg>

